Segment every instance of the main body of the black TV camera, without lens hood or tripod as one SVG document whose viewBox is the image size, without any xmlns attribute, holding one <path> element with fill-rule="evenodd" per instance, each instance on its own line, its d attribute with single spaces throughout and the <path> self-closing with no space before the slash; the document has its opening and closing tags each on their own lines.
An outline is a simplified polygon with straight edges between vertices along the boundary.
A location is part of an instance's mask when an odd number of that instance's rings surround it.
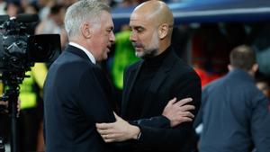
<svg viewBox="0 0 270 152">
<path fill-rule="evenodd" d="M 29 35 L 23 22 L 11 19 L 0 25 L 0 69 L 2 71 L 26 71 L 33 66 L 28 61 Z"/>
</svg>

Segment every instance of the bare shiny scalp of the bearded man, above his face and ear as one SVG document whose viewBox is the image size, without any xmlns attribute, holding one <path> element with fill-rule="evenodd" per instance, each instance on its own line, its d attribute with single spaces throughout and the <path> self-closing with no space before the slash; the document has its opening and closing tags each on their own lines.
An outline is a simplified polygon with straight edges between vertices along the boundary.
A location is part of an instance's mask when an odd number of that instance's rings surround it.
<svg viewBox="0 0 270 152">
<path fill-rule="evenodd" d="M 170 26 L 174 25 L 173 13 L 162 1 L 152 0 L 139 4 L 133 13 L 144 15 L 148 20 L 155 21 L 157 25 L 162 23 L 167 23 Z"/>
</svg>

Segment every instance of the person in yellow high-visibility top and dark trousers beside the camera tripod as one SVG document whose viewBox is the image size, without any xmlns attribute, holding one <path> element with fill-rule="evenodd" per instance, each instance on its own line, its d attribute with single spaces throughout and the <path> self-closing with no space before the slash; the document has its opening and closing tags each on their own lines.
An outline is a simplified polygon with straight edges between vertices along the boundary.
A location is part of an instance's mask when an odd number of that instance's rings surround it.
<svg viewBox="0 0 270 152">
<path fill-rule="evenodd" d="M 19 117 L 20 151 L 36 151 L 40 136 L 40 123 L 43 119 L 42 91 L 47 75 L 45 63 L 35 63 L 20 85 L 19 100 L 21 112 Z"/>
</svg>

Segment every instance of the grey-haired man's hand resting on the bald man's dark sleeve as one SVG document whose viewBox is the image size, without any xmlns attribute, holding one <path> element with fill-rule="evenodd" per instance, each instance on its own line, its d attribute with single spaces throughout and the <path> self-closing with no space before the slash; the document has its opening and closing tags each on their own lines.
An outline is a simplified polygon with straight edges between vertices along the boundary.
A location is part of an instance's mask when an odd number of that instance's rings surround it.
<svg viewBox="0 0 270 152">
<path fill-rule="evenodd" d="M 190 111 L 193 111 L 195 107 L 186 104 L 192 101 L 192 98 L 184 98 L 177 102 L 176 98 L 174 98 L 166 104 L 162 115 L 170 121 L 171 127 L 175 127 L 183 122 L 193 121 L 194 115 Z"/>
</svg>

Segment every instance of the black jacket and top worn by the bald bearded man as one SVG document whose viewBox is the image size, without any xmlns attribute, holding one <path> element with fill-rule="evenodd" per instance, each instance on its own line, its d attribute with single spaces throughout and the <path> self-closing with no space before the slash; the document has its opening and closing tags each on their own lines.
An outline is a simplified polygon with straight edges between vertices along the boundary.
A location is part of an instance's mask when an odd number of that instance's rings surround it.
<svg viewBox="0 0 270 152">
<path fill-rule="evenodd" d="M 139 126 L 141 136 L 136 148 L 129 151 L 183 152 L 191 147 L 193 122 L 170 128 L 169 121 L 160 115 L 166 103 L 174 97 L 178 100 L 192 97 L 191 104 L 196 107 L 193 114 L 196 115 L 201 102 L 200 78 L 193 68 L 175 55 L 171 47 L 161 56 L 164 58 L 157 56 L 159 59 L 149 65 L 147 60 L 139 61 L 125 71 L 121 117 L 128 121 L 141 119 L 134 122 Z M 158 68 L 155 68 L 156 64 L 160 64 Z M 148 76 L 148 70 L 152 70 L 153 76 Z M 139 83 L 142 80 L 145 83 Z M 139 92 L 139 87 L 143 87 L 145 93 Z M 142 94 L 143 98 L 140 97 Z M 141 105 L 133 109 L 130 105 L 137 102 Z"/>
</svg>

